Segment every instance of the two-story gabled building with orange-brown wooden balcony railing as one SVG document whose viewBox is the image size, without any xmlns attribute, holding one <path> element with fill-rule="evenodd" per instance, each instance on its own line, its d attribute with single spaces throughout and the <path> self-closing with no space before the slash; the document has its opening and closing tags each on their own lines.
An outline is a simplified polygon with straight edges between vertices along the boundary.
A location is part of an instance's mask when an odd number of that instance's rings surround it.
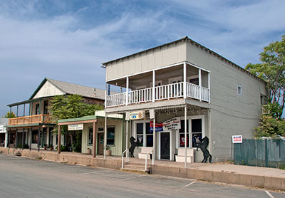
<svg viewBox="0 0 285 198">
<path fill-rule="evenodd" d="M 51 132 L 56 125 L 52 119 L 52 98 L 54 95 L 73 94 L 81 95 L 83 101 L 88 104 L 104 104 L 104 90 L 44 78 L 31 98 L 8 105 L 10 111 L 12 108 L 16 111 L 16 118 L 9 118 L 7 126 L 9 147 L 24 145 L 30 149 L 39 149 L 49 145 L 55 148 L 58 138 Z M 65 137 L 62 139 L 61 142 L 66 142 Z"/>
</svg>

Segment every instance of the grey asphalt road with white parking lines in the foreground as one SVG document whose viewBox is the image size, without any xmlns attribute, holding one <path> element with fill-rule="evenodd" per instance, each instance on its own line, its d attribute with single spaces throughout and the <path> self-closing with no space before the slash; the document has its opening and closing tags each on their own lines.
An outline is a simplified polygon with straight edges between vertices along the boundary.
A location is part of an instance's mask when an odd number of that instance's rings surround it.
<svg viewBox="0 0 285 198">
<path fill-rule="evenodd" d="M 268 193 L 0 154 L 0 197 L 285 197 Z"/>
</svg>

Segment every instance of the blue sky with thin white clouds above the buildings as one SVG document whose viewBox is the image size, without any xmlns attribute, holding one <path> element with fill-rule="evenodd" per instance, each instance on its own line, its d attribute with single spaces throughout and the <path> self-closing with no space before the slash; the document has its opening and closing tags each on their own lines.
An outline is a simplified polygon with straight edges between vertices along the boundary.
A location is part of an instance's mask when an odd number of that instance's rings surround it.
<svg viewBox="0 0 285 198">
<path fill-rule="evenodd" d="M 43 78 L 104 88 L 101 63 L 188 36 L 245 67 L 285 33 L 284 0 L 0 0 L 0 116 Z"/>
</svg>

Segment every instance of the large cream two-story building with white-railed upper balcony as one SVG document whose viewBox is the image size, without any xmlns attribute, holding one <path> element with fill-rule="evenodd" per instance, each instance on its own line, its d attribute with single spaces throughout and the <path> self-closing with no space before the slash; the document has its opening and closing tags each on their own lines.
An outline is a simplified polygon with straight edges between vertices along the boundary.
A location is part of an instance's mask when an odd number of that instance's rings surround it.
<svg viewBox="0 0 285 198">
<path fill-rule="evenodd" d="M 188 147 L 200 162 L 202 152 L 195 148 L 204 136 L 213 161 L 229 160 L 232 135 L 251 138 L 259 125 L 265 82 L 190 38 L 103 67 L 105 82 L 125 90 L 105 96 L 105 113 L 122 113 L 127 120 L 140 113 L 142 119 L 127 121 L 127 137 L 152 147 L 157 160 L 175 160 Z"/>
</svg>

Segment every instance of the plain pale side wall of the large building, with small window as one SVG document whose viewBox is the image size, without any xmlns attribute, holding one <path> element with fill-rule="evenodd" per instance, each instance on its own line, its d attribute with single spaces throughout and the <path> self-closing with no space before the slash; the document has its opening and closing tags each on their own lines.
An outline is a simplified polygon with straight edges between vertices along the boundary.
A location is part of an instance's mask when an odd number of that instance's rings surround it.
<svg viewBox="0 0 285 198">
<path fill-rule="evenodd" d="M 210 148 L 214 161 L 229 160 L 232 135 L 250 138 L 259 125 L 265 84 L 191 43 L 187 43 L 187 61 L 211 72 Z M 242 95 L 237 94 L 238 85 Z"/>
</svg>

